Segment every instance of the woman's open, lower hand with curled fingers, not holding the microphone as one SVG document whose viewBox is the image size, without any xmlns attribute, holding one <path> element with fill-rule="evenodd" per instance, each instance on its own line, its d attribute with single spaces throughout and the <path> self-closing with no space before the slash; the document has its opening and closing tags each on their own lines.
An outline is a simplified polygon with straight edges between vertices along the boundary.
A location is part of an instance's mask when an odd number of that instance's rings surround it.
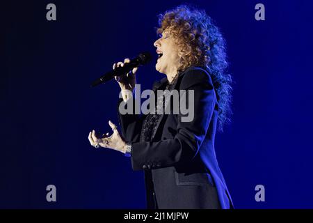
<svg viewBox="0 0 313 223">
<path fill-rule="evenodd" d="M 95 146 L 95 148 L 99 148 L 99 146 L 104 148 L 111 148 L 115 151 L 120 151 L 122 153 L 126 153 L 126 142 L 120 136 L 116 125 L 114 125 L 111 121 L 109 121 L 109 125 L 112 128 L 113 134 L 109 137 L 97 138 L 95 135 L 95 130 L 89 132 L 88 139 L 90 141 L 91 146 Z M 106 136 L 109 135 L 109 132 L 106 133 Z"/>
</svg>

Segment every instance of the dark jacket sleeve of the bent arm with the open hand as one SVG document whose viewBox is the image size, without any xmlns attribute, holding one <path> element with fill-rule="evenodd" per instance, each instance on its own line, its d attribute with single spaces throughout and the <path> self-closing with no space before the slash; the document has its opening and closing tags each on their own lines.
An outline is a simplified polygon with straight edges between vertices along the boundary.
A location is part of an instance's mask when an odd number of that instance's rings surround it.
<svg viewBox="0 0 313 223">
<path fill-rule="evenodd" d="M 134 170 L 170 167 L 177 162 L 188 162 L 198 153 L 216 103 L 213 84 L 209 74 L 197 68 L 184 74 L 179 90 L 186 90 L 186 106 L 193 103 L 193 119 L 182 121 L 183 115 L 179 112 L 174 139 L 132 144 L 131 166 Z M 194 92 L 192 101 L 188 101 L 188 91 Z"/>
</svg>

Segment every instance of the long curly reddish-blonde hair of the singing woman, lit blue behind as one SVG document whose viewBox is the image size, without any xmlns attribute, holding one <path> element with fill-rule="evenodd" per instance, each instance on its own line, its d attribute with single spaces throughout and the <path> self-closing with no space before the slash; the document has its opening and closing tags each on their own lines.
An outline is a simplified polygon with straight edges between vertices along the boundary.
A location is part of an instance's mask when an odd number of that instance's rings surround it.
<svg viewBox="0 0 313 223">
<path fill-rule="evenodd" d="M 218 27 L 204 10 L 177 6 L 159 15 L 157 33 L 168 31 L 179 47 L 183 71 L 190 66 L 201 66 L 211 75 L 218 100 L 218 130 L 230 122 L 232 101 L 232 76 L 227 74 L 228 66 L 225 39 Z"/>
</svg>

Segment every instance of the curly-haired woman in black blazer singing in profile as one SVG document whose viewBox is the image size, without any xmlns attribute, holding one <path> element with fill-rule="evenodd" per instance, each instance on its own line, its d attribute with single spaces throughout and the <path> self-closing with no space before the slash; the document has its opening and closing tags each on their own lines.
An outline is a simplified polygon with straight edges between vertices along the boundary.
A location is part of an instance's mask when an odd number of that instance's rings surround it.
<svg viewBox="0 0 313 223">
<path fill-rule="evenodd" d="M 157 33 L 155 68 L 166 77 L 152 90 L 193 91 L 187 100 L 194 106 L 193 119 L 119 114 L 121 134 L 109 121 L 113 134 L 99 137 L 93 130 L 90 144 L 125 153 L 134 170 L 144 171 L 147 208 L 233 208 L 214 149 L 216 130 L 230 120 L 232 79 L 226 72 L 225 40 L 204 10 L 184 5 L 159 15 Z M 113 69 L 129 61 L 114 63 Z M 120 102 L 135 102 L 137 70 L 115 77 Z"/>
</svg>

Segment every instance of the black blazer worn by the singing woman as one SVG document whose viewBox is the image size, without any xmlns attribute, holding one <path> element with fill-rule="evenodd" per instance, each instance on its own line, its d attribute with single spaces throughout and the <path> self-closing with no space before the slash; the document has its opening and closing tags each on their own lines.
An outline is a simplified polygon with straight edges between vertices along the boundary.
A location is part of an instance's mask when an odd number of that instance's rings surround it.
<svg viewBox="0 0 313 223">
<path fill-rule="evenodd" d="M 166 78 L 154 83 L 153 90 L 165 83 Z M 158 208 L 214 208 L 214 190 L 220 208 L 232 208 L 214 151 L 218 102 L 211 77 L 200 67 L 187 68 L 175 89 L 194 91 L 194 118 L 182 122 L 181 114 L 161 115 L 151 141 L 140 141 L 145 115 L 118 112 L 122 135 L 133 142 L 131 166 L 145 171 L 147 208 L 156 202 Z"/>
</svg>

